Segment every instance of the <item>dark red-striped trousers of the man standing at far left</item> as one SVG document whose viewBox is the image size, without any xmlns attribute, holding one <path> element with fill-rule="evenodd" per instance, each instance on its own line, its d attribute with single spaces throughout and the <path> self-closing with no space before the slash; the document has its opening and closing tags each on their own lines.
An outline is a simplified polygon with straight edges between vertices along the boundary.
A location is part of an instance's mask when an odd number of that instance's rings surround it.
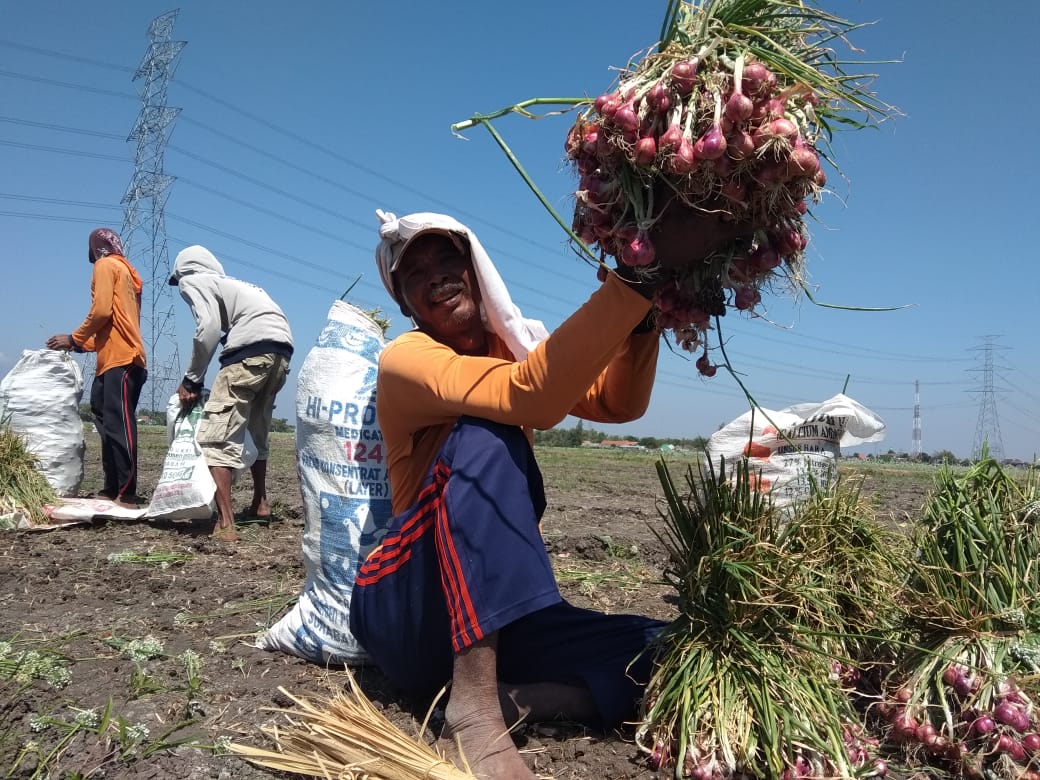
<svg viewBox="0 0 1040 780">
<path fill-rule="evenodd" d="M 102 491 L 109 498 L 137 494 L 137 401 L 148 371 L 116 366 L 94 378 L 90 413 L 101 436 Z"/>
</svg>

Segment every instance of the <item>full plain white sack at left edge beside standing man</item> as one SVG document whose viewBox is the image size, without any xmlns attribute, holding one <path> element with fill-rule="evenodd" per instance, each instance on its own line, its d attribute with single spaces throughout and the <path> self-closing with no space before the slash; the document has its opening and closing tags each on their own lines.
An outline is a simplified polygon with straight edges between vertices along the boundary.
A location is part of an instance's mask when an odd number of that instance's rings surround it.
<svg viewBox="0 0 1040 780">
<path fill-rule="evenodd" d="M 0 424 L 22 436 L 59 496 L 77 495 L 83 482 L 82 396 L 79 366 L 55 349 L 25 349 L 0 381 Z"/>
</svg>

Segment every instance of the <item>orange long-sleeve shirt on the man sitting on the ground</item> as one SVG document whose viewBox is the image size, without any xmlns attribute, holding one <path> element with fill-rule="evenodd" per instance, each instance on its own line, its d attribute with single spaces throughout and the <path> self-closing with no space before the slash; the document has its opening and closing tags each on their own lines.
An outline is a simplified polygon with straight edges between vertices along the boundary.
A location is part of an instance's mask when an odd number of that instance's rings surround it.
<svg viewBox="0 0 1040 780">
<path fill-rule="evenodd" d="M 463 415 L 548 428 L 568 414 L 627 422 L 646 412 L 657 333 L 631 335 L 649 302 L 613 274 L 525 360 L 489 335 L 488 357 L 459 355 L 424 333 L 398 336 L 380 356 L 375 412 L 386 444 L 393 512 L 418 496 L 430 465 Z M 551 378 L 551 381 L 549 380 Z"/>
</svg>

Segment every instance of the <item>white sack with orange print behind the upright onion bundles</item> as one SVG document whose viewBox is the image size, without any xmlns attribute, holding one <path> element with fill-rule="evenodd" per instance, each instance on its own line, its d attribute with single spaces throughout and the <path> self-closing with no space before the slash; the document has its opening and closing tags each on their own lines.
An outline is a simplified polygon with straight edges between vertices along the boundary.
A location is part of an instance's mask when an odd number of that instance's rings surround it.
<svg viewBox="0 0 1040 780">
<path fill-rule="evenodd" d="M 842 446 L 881 441 L 884 436 L 885 423 L 878 415 L 838 393 L 778 412 L 746 412 L 711 435 L 707 453 L 717 468 L 722 458 L 727 464 L 748 458 L 759 491 L 782 506 L 807 498 L 812 480 L 826 489 Z"/>
</svg>

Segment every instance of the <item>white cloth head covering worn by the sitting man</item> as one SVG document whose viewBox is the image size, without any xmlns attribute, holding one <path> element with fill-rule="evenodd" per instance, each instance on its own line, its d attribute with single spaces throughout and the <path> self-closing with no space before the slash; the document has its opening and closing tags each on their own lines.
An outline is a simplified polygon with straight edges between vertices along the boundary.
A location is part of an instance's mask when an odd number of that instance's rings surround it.
<svg viewBox="0 0 1040 780">
<path fill-rule="evenodd" d="M 476 284 L 480 288 L 480 318 L 489 333 L 494 333 L 510 348 L 513 357 L 523 360 L 527 353 L 548 337 L 549 332 L 538 319 L 526 319 L 513 303 L 505 283 L 488 257 L 484 246 L 469 228 L 446 214 L 419 212 L 399 219 L 389 211 L 375 210 L 380 219 L 380 243 L 375 248 L 375 264 L 380 279 L 390 297 L 400 304 L 393 288 L 391 275 L 397 269 L 405 250 L 423 233 L 448 236 L 461 251 L 462 241 L 469 244 Z"/>
</svg>

